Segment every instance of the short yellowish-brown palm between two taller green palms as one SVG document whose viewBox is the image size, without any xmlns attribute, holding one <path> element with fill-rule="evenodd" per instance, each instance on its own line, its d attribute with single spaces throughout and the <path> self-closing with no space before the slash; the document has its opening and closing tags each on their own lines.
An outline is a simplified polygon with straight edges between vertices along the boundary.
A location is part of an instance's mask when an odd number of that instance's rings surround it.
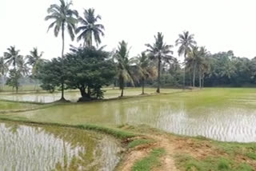
<svg viewBox="0 0 256 171">
<path fill-rule="evenodd" d="M 138 57 L 132 58 L 131 62 L 136 65 L 137 80 L 142 83 L 142 94 L 144 94 L 146 79 L 154 78 L 157 75 L 157 69 L 145 52 L 142 52 Z"/>
</svg>

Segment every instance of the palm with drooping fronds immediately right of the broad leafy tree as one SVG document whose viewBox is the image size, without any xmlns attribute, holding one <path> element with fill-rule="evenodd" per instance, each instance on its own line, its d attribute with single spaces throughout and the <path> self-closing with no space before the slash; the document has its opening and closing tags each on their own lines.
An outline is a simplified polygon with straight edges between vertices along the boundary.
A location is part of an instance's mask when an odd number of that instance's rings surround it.
<svg viewBox="0 0 256 171">
<path fill-rule="evenodd" d="M 119 42 L 118 50 L 114 54 L 114 59 L 117 61 L 118 82 L 121 89 L 121 97 L 126 82 L 131 82 L 134 85 L 132 74 L 130 73 L 128 44 L 125 41 Z"/>
</svg>

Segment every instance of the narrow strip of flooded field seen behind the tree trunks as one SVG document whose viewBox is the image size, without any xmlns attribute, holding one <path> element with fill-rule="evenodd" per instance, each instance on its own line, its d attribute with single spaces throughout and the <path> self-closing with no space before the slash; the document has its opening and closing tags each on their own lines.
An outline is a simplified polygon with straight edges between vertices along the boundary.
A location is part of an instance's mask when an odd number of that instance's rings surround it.
<svg viewBox="0 0 256 171">
<path fill-rule="evenodd" d="M 118 88 L 106 88 L 104 89 L 106 92 L 104 93 L 104 97 L 114 98 L 120 96 L 121 91 Z M 155 93 L 154 88 L 146 88 L 145 93 Z M 180 89 L 162 89 L 162 93 L 173 93 L 180 91 Z M 142 89 L 140 88 L 128 88 L 125 89 L 124 96 L 136 96 L 142 93 Z M 79 91 L 68 91 L 65 92 L 65 98 L 70 101 L 78 101 L 78 98 L 81 97 Z M 0 99 L 9 100 L 9 101 L 33 101 L 33 102 L 42 102 L 49 103 L 53 101 L 58 101 L 61 98 L 61 93 L 34 93 L 34 92 L 26 92 L 26 93 L 0 93 Z"/>
</svg>

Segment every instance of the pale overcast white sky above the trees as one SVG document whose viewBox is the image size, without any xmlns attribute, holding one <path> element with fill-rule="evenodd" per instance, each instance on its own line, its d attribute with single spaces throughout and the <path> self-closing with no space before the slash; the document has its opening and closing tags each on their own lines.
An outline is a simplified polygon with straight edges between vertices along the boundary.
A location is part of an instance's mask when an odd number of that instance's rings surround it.
<svg viewBox="0 0 256 171">
<path fill-rule="evenodd" d="M 62 39 L 47 33 L 50 21 L 44 18 L 50 4 L 58 0 L 1 0 L 0 56 L 10 46 L 22 55 L 33 47 L 43 51 L 43 58 L 61 56 Z M 102 16 L 106 50 L 117 48 L 118 42 L 128 42 L 130 57 L 146 50 L 146 43 L 154 42 L 154 35 L 164 34 L 164 40 L 174 45 L 178 34 L 188 30 L 194 34 L 198 46 L 206 46 L 211 53 L 233 50 L 238 57 L 256 56 L 256 2 L 254 0 L 73 0 L 73 9 L 94 8 Z M 66 34 L 65 52 L 71 42 Z M 80 42 L 81 43 L 81 42 Z M 178 47 L 174 46 L 178 57 Z"/>
</svg>

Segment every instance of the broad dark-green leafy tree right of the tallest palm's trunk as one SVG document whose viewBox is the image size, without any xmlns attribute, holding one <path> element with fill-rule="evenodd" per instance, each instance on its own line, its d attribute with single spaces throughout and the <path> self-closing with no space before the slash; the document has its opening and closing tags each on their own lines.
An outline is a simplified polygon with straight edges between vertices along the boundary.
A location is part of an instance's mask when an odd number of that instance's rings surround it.
<svg viewBox="0 0 256 171">
<path fill-rule="evenodd" d="M 103 48 L 80 47 L 66 55 L 64 64 L 66 85 L 80 90 L 82 97 L 79 101 L 102 98 L 102 86 L 113 82 L 114 62 Z"/>
</svg>

